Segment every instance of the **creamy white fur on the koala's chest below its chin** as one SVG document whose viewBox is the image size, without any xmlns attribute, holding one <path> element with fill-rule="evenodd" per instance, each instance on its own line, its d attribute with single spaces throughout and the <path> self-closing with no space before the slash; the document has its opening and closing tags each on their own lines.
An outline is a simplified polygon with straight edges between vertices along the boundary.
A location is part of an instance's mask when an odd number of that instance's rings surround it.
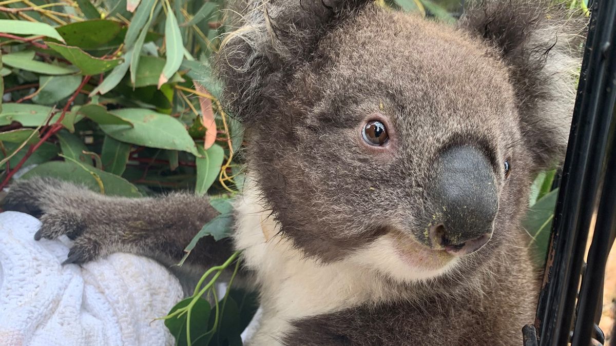
<svg viewBox="0 0 616 346">
<path fill-rule="evenodd" d="M 244 264 L 256 272 L 263 315 L 251 345 L 280 344 L 290 321 L 353 305 L 386 300 L 391 292 L 373 270 L 354 260 L 320 264 L 302 256 L 259 204 L 257 192 L 237 201 L 235 241 Z"/>
</svg>

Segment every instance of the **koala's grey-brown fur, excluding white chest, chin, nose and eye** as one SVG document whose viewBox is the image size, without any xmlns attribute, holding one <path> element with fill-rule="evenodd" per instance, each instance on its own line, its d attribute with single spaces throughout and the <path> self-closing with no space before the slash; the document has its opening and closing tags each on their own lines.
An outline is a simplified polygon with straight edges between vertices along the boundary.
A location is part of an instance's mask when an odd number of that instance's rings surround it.
<svg viewBox="0 0 616 346">
<path fill-rule="evenodd" d="M 434 162 L 448 148 L 484 153 L 498 195 L 492 239 L 456 270 L 420 282 L 382 273 L 403 299 L 291 321 L 283 342 L 521 344 L 538 276 L 519 222 L 533 176 L 562 159 L 585 26 L 548 3 L 479 2 L 454 28 L 367 0 L 251 2 L 217 60 L 223 101 L 247 126 L 263 207 L 306 260 L 339 263 L 388 234 L 426 244 Z M 362 142 L 374 118 L 387 149 Z M 189 195 L 131 200 L 59 184 L 18 182 L 5 207 L 41 215 L 47 238 L 76 238 L 78 263 L 131 251 L 171 264 L 216 215 Z M 200 241 L 192 263 L 217 262 L 227 245 Z"/>
</svg>

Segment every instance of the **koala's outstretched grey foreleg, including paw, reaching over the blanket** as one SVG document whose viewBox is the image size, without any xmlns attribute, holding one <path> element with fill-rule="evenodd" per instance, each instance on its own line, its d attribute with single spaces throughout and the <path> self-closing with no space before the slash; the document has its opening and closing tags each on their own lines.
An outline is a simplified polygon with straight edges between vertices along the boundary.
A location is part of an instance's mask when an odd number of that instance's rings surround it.
<svg viewBox="0 0 616 346">
<path fill-rule="evenodd" d="M 232 254 L 230 241 L 206 236 L 198 241 L 185 265 L 177 267 L 193 236 L 218 214 L 208 198 L 189 193 L 161 198 L 111 197 L 36 177 L 12 185 L 4 209 L 38 217 L 42 225 L 34 235 L 37 240 L 60 235 L 73 239 L 65 264 L 129 252 L 156 259 L 180 276 L 195 276 Z"/>
</svg>

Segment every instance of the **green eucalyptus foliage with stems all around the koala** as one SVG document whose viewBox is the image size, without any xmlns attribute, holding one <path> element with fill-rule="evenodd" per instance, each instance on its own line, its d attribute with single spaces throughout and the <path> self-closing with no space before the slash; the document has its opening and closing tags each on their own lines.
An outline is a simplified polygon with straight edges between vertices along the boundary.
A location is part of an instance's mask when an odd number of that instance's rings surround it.
<svg viewBox="0 0 616 346">
<path fill-rule="evenodd" d="M 584 1 L 566 1 L 585 8 Z M 377 2 L 448 23 L 461 9 L 460 0 Z M 34 175 L 107 195 L 188 188 L 216 196 L 212 204 L 221 215 L 204 225 L 187 255 L 200 236 L 223 238 L 227 199 L 243 181 L 237 159 L 243 132 L 221 109 L 208 63 L 226 30 L 226 5 L 0 0 L 0 190 Z M 524 223 L 533 236 L 529 246 L 540 250 L 538 264 L 553 219 L 553 179 L 554 172 L 538 177 Z M 212 268 L 195 294 L 174 307 L 166 325 L 178 344 L 241 344 L 255 297 L 232 289 L 219 300 L 214 289 L 233 265 L 237 261 Z"/>
</svg>

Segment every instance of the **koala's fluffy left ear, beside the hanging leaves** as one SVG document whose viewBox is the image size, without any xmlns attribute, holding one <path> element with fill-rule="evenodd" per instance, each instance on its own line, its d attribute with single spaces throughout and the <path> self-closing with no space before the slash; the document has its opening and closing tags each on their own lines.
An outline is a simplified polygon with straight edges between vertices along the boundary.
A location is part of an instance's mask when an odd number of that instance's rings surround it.
<svg viewBox="0 0 616 346">
<path fill-rule="evenodd" d="M 250 126 L 264 115 L 265 100 L 280 94 L 284 80 L 310 58 L 331 28 L 371 0 L 245 0 L 241 26 L 217 56 L 224 101 Z"/>
</svg>

